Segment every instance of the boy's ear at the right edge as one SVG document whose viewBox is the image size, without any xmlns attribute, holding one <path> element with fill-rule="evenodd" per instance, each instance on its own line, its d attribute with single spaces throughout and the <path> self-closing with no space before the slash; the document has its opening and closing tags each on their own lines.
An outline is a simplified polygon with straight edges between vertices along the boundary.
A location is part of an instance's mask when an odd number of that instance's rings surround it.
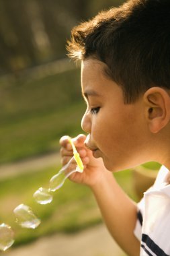
<svg viewBox="0 0 170 256">
<path fill-rule="evenodd" d="M 145 117 L 152 133 L 158 133 L 170 121 L 170 94 L 161 87 L 149 88 L 144 93 Z"/>
</svg>

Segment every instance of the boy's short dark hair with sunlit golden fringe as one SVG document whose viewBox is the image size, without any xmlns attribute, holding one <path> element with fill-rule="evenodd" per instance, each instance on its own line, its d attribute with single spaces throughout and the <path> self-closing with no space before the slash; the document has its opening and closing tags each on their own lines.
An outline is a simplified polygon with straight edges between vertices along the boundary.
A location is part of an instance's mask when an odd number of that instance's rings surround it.
<svg viewBox="0 0 170 256">
<path fill-rule="evenodd" d="M 69 56 L 94 57 L 134 102 L 152 86 L 170 89 L 170 0 L 130 0 L 73 28 Z"/>
</svg>

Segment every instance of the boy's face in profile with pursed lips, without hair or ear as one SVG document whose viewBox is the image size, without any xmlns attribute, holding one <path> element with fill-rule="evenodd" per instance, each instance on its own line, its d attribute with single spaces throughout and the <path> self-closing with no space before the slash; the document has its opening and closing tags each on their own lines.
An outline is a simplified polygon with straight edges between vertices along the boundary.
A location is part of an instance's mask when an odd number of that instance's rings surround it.
<svg viewBox="0 0 170 256">
<path fill-rule="evenodd" d="M 105 64 L 87 59 L 81 65 L 81 85 L 87 102 L 82 128 L 87 147 L 103 158 L 108 170 L 122 170 L 146 162 L 146 124 L 142 100 L 124 104 L 122 88 L 104 75 Z"/>
</svg>

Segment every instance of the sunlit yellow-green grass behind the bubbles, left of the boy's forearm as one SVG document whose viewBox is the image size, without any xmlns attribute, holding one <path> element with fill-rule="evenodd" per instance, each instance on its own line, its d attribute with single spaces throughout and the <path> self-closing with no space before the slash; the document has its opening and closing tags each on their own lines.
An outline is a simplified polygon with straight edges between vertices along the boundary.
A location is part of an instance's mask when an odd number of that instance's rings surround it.
<svg viewBox="0 0 170 256">
<path fill-rule="evenodd" d="M 15 245 L 28 243 L 39 236 L 54 232 L 75 232 L 101 222 L 91 191 L 69 180 L 61 189 L 52 193 L 52 203 L 40 205 L 34 201 L 33 193 L 39 187 L 48 187 L 48 181 L 59 169 L 60 166 L 53 166 L 0 182 L 0 220 L 9 224 L 15 231 Z M 13 209 L 20 203 L 30 205 L 42 220 L 36 230 L 21 228 L 15 223 Z"/>
</svg>

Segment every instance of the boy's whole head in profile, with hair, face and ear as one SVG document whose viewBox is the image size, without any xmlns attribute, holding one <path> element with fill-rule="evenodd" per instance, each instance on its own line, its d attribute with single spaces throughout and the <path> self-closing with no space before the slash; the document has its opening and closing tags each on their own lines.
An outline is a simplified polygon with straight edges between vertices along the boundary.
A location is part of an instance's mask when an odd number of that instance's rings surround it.
<svg viewBox="0 0 170 256">
<path fill-rule="evenodd" d="M 161 152 L 166 148 L 169 156 L 170 151 L 170 1 L 130 0 L 103 11 L 73 28 L 68 50 L 82 60 L 87 101 L 82 127 L 90 134 L 87 146 L 94 156 L 102 157 L 109 170 L 151 160 L 165 164 Z"/>
</svg>

